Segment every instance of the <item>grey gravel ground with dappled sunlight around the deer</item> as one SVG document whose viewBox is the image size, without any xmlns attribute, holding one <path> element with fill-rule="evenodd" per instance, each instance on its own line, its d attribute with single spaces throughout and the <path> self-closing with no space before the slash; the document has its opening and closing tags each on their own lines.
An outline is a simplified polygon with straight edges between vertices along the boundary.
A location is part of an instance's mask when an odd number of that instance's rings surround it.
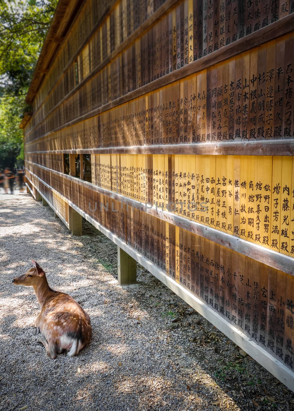
<svg viewBox="0 0 294 411">
<path fill-rule="evenodd" d="M 294 408 L 293 393 L 144 268 L 136 286 L 118 286 L 116 246 L 86 221 L 83 233 L 28 194 L 0 195 L 1 411 Z M 77 357 L 51 360 L 36 342 L 37 298 L 11 282 L 32 258 L 90 315 Z"/>
</svg>

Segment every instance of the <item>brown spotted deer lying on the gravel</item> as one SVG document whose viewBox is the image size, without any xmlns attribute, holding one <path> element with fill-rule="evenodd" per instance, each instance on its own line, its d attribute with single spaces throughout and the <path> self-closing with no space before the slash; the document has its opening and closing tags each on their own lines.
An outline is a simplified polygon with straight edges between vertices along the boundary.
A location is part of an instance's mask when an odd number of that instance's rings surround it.
<svg viewBox="0 0 294 411">
<path fill-rule="evenodd" d="M 43 268 L 32 260 L 33 268 L 12 280 L 13 284 L 33 286 L 41 305 L 41 312 L 35 319 L 41 342 L 52 359 L 67 351 L 76 356 L 91 338 L 90 317 L 68 294 L 52 290 Z"/>
</svg>

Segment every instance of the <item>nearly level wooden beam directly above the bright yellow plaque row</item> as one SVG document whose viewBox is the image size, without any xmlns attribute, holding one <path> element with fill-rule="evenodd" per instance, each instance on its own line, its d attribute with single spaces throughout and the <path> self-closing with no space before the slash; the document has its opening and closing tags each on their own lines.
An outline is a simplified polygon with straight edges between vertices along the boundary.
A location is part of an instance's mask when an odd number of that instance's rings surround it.
<svg viewBox="0 0 294 411">
<path fill-rule="evenodd" d="M 294 155 L 293 140 L 240 141 L 134 145 L 131 147 L 83 148 L 76 150 L 26 151 L 26 154 L 191 154 L 191 155 Z"/>
</svg>

